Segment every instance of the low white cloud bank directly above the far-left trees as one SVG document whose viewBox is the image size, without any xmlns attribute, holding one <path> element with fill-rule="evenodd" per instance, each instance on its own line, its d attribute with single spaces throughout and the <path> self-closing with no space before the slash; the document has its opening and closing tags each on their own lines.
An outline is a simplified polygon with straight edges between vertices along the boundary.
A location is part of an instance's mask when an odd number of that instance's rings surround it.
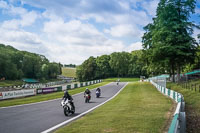
<svg viewBox="0 0 200 133">
<path fill-rule="evenodd" d="M 10 30 L 0 28 L 0 43 L 14 46 L 19 50 L 25 50 L 48 57 L 48 49 L 36 34 L 23 30 Z"/>
</svg>

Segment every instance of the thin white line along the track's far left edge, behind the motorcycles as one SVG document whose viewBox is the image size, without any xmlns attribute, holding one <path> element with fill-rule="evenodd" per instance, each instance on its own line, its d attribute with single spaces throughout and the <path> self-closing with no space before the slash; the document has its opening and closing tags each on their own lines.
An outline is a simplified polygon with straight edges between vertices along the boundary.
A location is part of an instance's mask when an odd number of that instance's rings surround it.
<svg viewBox="0 0 200 133">
<path fill-rule="evenodd" d="M 113 83 L 113 82 L 111 82 Z M 109 84 L 111 84 L 109 83 Z M 109 84 L 106 84 L 106 85 L 109 85 Z M 103 86 L 106 86 L 106 85 L 103 85 Z M 84 86 L 86 87 L 86 86 Z M 102 87 L 102 86 L 101 86 Z M 94 88 L 96 89 L 96 88 Z M 94 90 L 94 89 L 91 89 L 91 90 Z M 82 94 L 83 92 L 80 92 L 80 93 L 77 93 L 77 94 L 74 94 L 72 96 L 76 96 L 76 95 L 79 95 L 79 94 Z M 52 99 L 52 100 L 47 100 L 47 101 L 41 101 L 41 102 L 35 102 L 35 103 L 28 103 L 28 104 L 21 104 L 21 105 L 14 105 L 14 106 L 8 106 L 8 107 L 0 107 L 0 109 L 6 109 L 6 108 L 14 108 L 14 107 L 21 107 L 21 106 L 26 106 L 26 105 L 34 105 L 34 104 L 40 104 L 40 103 L 46 103 L 46 102 L 52 102 L 52 101 L 56 101 L 56 100 L 59 100 L 59 99 L 62 99 L 62 98 L 56 98 L 56 99 Z"/>
</svg>

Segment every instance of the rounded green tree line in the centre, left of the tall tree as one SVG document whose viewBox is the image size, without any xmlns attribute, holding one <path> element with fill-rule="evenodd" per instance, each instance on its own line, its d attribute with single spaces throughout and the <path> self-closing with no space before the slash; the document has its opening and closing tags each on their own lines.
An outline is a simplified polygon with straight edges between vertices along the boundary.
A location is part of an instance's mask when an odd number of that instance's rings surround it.
<svg viewBox="0 0 200 133">
<path fill-rule="evenodd" d="M 108 77 L 147 76 L 144 54 L 142 50 L 114 52 L 97 58 L 91 56 L 76 68 L 79 81 L 88 81 Z"/>
</svg>

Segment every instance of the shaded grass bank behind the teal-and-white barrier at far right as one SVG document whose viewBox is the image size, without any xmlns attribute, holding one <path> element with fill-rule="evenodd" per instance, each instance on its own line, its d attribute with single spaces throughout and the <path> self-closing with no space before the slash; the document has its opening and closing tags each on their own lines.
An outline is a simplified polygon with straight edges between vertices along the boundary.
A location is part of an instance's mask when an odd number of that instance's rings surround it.
<svg viewBox="0 0 200 133">
<path fill-rule="evenodd" d="M 190 82 L 196 83 L 197 81 Z M 200 80 L 199 80 L 200 82 Z M 198 83 L 199 83 L 198 82 Z M 175 90 L 184 96 L 185 112 L 186 112 L 186 132 L 199 133 L 200 132 L 200 93 L 197 91 L 182 88 L 175 83 L 167 83 L 167 87 Z"/>
</svg>

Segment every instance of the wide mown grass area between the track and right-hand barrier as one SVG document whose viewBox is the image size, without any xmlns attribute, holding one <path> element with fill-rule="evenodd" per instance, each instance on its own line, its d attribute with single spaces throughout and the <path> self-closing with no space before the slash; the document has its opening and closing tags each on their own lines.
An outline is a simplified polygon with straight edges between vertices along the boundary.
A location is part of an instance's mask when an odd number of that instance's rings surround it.
<svg viewBox="0 0 200 133">
<path fill-rule="evenodd" d="M 120 94 L 56 133 L 167 132 L 173 102 L 149 83 L 129 83 Z M 170 121 L 171 122 L 171 121 Z"/>
</svg>

